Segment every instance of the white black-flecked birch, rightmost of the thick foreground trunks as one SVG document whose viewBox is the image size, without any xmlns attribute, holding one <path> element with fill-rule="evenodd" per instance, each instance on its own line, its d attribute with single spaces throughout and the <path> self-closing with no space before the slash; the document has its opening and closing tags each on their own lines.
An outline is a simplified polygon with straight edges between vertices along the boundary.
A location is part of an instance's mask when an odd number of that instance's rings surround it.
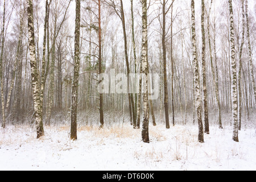
<svg viewBox="0 0 256 182">
<path fill-rule="evenodd" d="M 232 0 L 229 0 L 229 18 L 230 18 L 230 48 L 231 48 L 231 61 L 232 61 L 232 115 L 233 115 L 233 140 L 238 140 L 238 102 L 237 102 L 237 65 L 235 59 L 235 44 L 234 44 L 234 18 Z"/>
</svg>

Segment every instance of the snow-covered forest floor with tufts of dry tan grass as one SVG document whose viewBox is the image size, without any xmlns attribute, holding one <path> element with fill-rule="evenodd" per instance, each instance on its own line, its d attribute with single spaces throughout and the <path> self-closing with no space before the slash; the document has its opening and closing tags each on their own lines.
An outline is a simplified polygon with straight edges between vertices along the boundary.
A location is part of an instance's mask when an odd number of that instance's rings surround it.
<svg viewBox="0 0 256 182">
<path fill-rule="evenodd" d="M 146 144 L 130 125 L 82 126 L 76 141 L 69 139 L 69 126 L 45 127 L 41 139 L 29 126 L 7 126 L 0 130 L 0 170 L 256 170 L 255 129 L 242 129 L 236 143 L 232 127 L 212 126 L 203 144 L 197 130 L 150 125 Z"/>
</svg>

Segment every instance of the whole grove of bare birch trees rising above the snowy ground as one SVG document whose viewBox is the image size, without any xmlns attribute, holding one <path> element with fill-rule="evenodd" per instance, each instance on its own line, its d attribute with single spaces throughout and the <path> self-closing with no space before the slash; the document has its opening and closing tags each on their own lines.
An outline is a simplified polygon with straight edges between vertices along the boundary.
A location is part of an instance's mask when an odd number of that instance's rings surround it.
<svg viewBox="0 0 256 182">
<path fill-rule="evenodd" d="M 151 129 L 198 125 L 206 143 L 213 127 L 232 126 L 238 142 L 255 125 L 254 6 L 3 0 L 2 129 L 28 125 L 41 138 L 64 125 L 77 140 L 85 127 L 101 133 L 128 123 L 150 143 Z"/>
</svg>

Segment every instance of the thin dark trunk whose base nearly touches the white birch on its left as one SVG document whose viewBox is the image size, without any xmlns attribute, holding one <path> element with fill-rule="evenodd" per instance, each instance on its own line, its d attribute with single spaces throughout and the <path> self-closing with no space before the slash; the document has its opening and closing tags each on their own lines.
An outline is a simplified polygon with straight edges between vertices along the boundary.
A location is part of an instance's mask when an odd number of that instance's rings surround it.
<svg viewBox="0 0 256 182">
<path fill-rule="evenodd" d="M 204 0 L 201 1 L 202 15 L 201 15 L 201 29 L 202 29 L 202 78 L 203 78 L 203 92 L 204 92 L 204 132 L 210 134 L 209 130 L 209 118 L 208 118 L 208 100 L 207 100 L 207 77 L 205 66 L 205 29 L 204 29 L 204 12 L 205 5 Z"/>
</svg>

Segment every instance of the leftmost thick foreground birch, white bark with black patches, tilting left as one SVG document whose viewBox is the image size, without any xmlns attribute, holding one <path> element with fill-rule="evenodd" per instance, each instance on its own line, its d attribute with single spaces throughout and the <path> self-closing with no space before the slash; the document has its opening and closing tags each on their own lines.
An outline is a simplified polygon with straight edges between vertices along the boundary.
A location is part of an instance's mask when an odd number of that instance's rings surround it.
<svg viewBox="0 0 256 182">
<path fill-rule="evenodd" d="M 28 0 L 28 42 L 30 49 L 30 67 L 31 67 L 31 78 L 32 78 L 32 91 L 33 91 L 33 100 L 34 100 L 34 116 L 36 121 L 36 133 L 37 138 L 40 138 L 44 135 L 43 128 L 43 107 L 40 104 L 40 87 L 39 87 L 39 75 L 38 67 L 36 63 L 36 52 L 35 52 L 35 32 L 34 32 L 34 18 L 33 18 L 33 2 Z"/>
</svg>

